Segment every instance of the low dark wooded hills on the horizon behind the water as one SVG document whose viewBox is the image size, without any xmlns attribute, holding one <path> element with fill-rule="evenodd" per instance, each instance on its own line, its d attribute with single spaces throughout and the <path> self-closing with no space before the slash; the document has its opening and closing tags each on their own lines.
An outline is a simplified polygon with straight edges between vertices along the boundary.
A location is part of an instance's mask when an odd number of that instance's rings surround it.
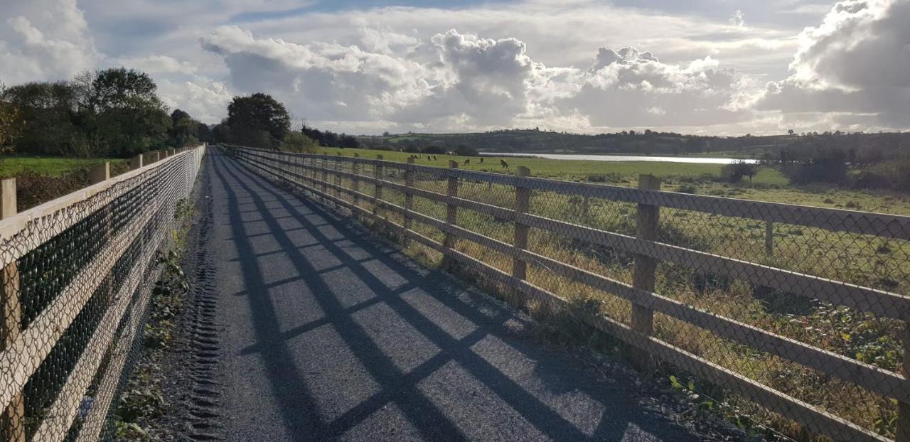
<svg viewBox="0 0 910 442">
<path fill-rule="evenodd" d="M 361 144 L 384 150 L 420 152 L 428 146 L 455 150 L 459 146 L 478 152 L 723 155 L 777 157 L 781 151 L 800 152 L 840 148 L 861 156 L 890 157 L 910 151 L 910 133 L 794 134 L 778 136 L 690 136 L 662 132 L 621 132 L 581 135 L 536 129 L 513 129 L 465 134 L 400 134 L 359 136 Z M 798 156 L 798 155 L 797 155 Z"/>
</svg>

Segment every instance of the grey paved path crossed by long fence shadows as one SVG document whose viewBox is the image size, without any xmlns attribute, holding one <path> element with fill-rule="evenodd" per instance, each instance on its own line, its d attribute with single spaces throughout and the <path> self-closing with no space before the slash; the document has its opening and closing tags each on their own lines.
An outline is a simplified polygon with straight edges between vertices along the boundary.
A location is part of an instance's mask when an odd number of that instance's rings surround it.
<svg viewBox="0 0 910 442">
<path fill-rule="evenodd" d="M 216 149 L 202 179 L 227 439 L 696 439 L 622 372 Z"/>
</svg>

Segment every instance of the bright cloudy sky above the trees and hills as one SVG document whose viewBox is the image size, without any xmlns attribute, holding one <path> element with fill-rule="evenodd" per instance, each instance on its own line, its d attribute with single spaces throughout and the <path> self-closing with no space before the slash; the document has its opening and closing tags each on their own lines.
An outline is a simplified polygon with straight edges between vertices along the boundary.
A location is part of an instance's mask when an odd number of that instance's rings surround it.
<svg viewBox="0 0 910 442">
<path fill-rule="evenodd" d="M 910 128 L 910 0 L 0 0 L 0 82 L 147 72 L 349 134 Z"/>
</svg>

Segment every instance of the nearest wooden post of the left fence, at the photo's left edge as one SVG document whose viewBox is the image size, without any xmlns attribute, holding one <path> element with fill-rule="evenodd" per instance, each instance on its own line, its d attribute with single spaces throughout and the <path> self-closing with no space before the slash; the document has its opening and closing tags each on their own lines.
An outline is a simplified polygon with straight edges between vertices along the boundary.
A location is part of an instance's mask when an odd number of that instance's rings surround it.
<svg viewBox="0 0 910 442">
<path fill-rule="evenodd" d="M 0 219 L 16 214 L 15 178 L 0 182 Z M 13 261 L 7 264 L 0 273 L 0 298 L 3 301 L 4 316 L 0 317 L 0 334 L 3 336 L 3 347 L 13 345 L 19 337 L 22 326 L 22 306 L 19 304 L 19 266 Z M 25 442 L 25 397 L 18 392 L 9 404 L 5 404 L 0 428 L 6 429 L 3 442 Z"/>
</svg>

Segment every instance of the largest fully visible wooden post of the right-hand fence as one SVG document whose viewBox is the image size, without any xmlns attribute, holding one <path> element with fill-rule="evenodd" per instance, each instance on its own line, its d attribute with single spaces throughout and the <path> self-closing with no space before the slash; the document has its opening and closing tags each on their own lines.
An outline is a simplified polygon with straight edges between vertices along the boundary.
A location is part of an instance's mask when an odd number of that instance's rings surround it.
<svg viewBox="0 0 910 442">
<path fill-rule="evenodd" d="M 638 188 L 642 190 L 660 190 L 661 181 L 652 175 L 638 177 Z M 638 218 L 635 225 L 635 236 L 641 239 L 656 240 L 660 232 L 658 221 L 660 206 L 638 205 Z M 632 275 L 632 286 L 649 292 L 654 291 L 654 273 L 657 260 L 651 256 L 635 256 L 635 272 Z M 654 328 L 654 312 L 645 306 L 632 303 L 632 329 L 643 335 L 651 335 Z M 651 365 L 651 357 L 639 348 L 632 349 L 632 361 L 640 368 Z"/>
</svg>

